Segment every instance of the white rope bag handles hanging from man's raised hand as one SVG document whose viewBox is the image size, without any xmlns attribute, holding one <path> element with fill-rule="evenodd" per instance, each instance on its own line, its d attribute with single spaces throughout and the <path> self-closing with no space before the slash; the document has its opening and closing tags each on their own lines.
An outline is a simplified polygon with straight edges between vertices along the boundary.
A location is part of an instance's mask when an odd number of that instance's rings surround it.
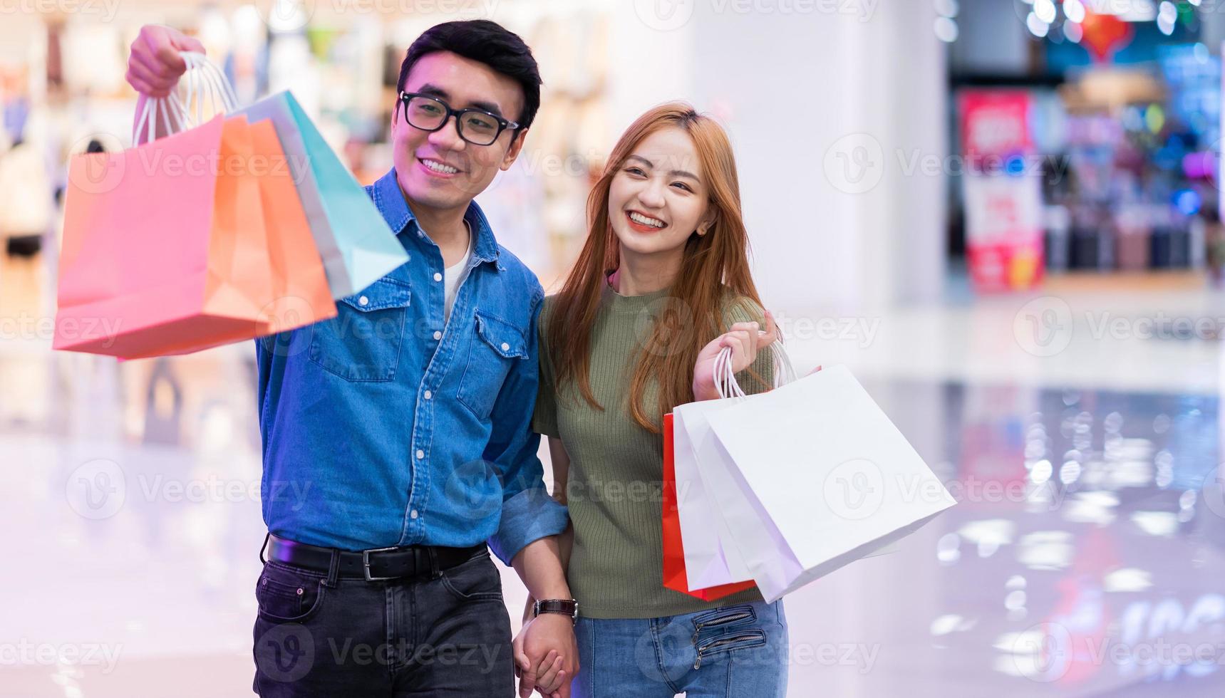
<svg viewBox="0 0 1225 698">
<path fill-rule="evenodd" d="M 206 98 L 209 114 L 224 114 L 238 109 L 234 86 L 216 64 L 197 51 L 180 51 L 179 55 L 187 65 L 183 80 L 179 81 L 184 96 L 180 98 L 179 92 L 170 92 L 167 97 L 147 97 L 136 122 L 132 124 L 132 143 L 140 142 L 142 130 L 147 131 L 143 142 L 153 141 L 159 119 L 165 126 L 167 135 L 202 124 Z M 195 119 L 191 118 L 192 107 L 195 107 Z"/>
</svg>

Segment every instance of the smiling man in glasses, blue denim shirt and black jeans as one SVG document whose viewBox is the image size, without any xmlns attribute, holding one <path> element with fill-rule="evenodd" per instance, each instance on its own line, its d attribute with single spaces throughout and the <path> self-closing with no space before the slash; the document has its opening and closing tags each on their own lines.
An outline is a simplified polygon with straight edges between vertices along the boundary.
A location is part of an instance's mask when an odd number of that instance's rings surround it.
<svg viewBox="0 0 1225 698">
<path fill-rule="evenodd" d="M 180 50 L 203 48 L 142 28 L 129 82 L 168 94 Z M 270 560 L 254 688 L 507 696 L 518 670 L 521 696 L 566 697 L 567 514 L 529 426 L 544 291 L 472 201 L 523 147 L 539 70 L 499 24 L 448 22 L 408 49 L 397 87 L 394 167 L 368 192 L 409 261 L 337 302 L 336 318 L 256 342 Z M 486 539 L 550 600 L 513 658 Z"/>
</svg>

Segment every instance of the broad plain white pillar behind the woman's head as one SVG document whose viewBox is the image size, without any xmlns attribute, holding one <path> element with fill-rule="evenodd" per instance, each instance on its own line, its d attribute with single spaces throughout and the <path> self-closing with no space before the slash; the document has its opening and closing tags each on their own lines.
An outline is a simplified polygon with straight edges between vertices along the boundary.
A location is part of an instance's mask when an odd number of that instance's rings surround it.
<svg viewBox="0 0 1225 698">
<path fill-rule="evenodd" d="M 948 154 L 935 17 L 924 0 L 625 2 L 609 125 L 620 133 L 671 98 L 720 118 L 771 307 L 862 313 L 935 300 Z M 936 174 L 907 174 L 922 162 Z"/>
</svg>

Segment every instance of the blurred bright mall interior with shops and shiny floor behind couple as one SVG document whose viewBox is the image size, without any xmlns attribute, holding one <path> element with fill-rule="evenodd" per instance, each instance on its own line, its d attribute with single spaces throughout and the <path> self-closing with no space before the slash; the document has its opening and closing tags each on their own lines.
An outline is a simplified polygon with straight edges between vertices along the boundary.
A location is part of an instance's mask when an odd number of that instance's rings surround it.
<svg viewBox="0 0 1225 698">
<path fill-rule="evenodd" d="M 369 182 L 404 49 L 474 17 L 544 73 L 478 201 L 546 288 L 617 135 L 692 102 L 796 367 L 848 365 L 960 501 L 786 599 L 791 696 L 1225 694 L 1225 2 L 0 0 L 0 696 L 251 686 L 250 344 L 50 349 L 67 162 L 130 147 L 140 27 L 198 37 L 241 102 L 292 89 Z M 74 495 L 100 459 L 103 513 Z"/>
</svg>

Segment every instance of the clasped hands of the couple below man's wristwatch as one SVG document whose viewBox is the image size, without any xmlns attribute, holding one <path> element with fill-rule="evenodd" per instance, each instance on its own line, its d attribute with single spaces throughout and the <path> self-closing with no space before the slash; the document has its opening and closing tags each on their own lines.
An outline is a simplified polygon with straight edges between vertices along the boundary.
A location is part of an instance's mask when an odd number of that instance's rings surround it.
<svg viewBox="0 0 1225 698">
<path fill-rule="evenodd" d="M 514 638 L 514 674 L 519 697 L 539 691 L 548 698 L 570 698 L 570 681 L 578 674 L 575 623 L 561 614 L 540 614 Z"/>
</svg>

